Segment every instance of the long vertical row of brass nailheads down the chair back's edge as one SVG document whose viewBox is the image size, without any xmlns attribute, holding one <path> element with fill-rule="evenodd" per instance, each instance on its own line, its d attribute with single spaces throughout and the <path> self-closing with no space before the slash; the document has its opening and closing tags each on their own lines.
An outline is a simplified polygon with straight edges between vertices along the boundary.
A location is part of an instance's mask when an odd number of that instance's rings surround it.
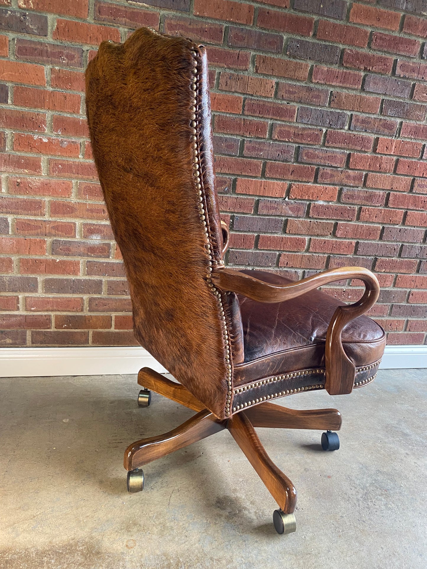
<svg viewBox="0 0 427 569">
<path fill-rule="evenodd" d="M 196 51 L 191 51 L 191 55 L 196 57 L 196 55 L 198 55 L 198 54 Z M 200 182 L 202 181 L 201 180 L 202 175 L 200 173 L 200 155 L 199 155 L 198 144 L 197 144 L 197 136 L 196 136 L 197 135 L 197 126 L 198 126 L 198 124 L 196 122 L 196 118 L 197 118 L 196 117 L 196 110 L 197 110 L 196 92 L 198 89 L 198 84 L 197 84 L 198 71 L 197 71 L 197 61 L 195 59 L 192 60 L 192 65 L 193 65 L 193 69 L 192 69 L 190 89 L 192 91 L 193 98 L 191 100 L 191 107 L 190 107 L 190 112 L 191 112 L 191 114 L 190 114 L 190 120 L 191 120 L 190 126 L 192 129 L 191 149 L 193 152 L 193 158 L 192 158 L 193 176 L 194 176 L 195 188 L 197 191 L 199 218 L 200 218 L 200 221 L 202 222 L 204 242 L 205 242 L 205 247 L 206 247 L 207 254 L 208 254 L 208 272 L 206 275 L 206 281 L 208 283 L 208 287 L 210 287 L 211 291 L 216 296 L 216 302 L 217 302 L 217 306 L 219 308 L 219 314 L 220 314 L 220 319 L 221 319 L 221 327 L 223 328 L 223 338 L 224 338 L 224 344 L 225 344 L 225 367 L 227 368 L 227 398 L 225 401 L 225 416 L 229 417 L 230 416 L 231 395 L 232 395 L 231 345 L 230 345 L 230 341 L 229 341 L 227 321 L 225 320 L 225 312 L 224 312 L 223 299 L 221 297 L 221 292 L 219 290 L 217 290 L 217 288 L 215 286 L 213 286 L 213 283 L 211 281 L 213 251 L 211 248 L 211 240 L 209 237 L 208 225 L 206 222 L 206 220 L 207 220 L 207 209 L 205 209 L 206 205 L 203 203 L 202 184 L 200 184 Z"/>
</svg>

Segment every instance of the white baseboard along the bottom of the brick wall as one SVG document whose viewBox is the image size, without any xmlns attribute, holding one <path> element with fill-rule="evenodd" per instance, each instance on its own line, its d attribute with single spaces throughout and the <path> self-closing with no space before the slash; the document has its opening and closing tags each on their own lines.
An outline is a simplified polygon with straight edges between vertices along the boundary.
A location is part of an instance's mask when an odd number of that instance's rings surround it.
<svg viewBox="0 0 427 569">
<path fill-rule="evenodd" d="M 166 370 L 139 346 L 0 348 L 0 377 L 101 376 Z M 427 346 L 387 346 L 380 368 L 427 368 Z"/>
</svg>

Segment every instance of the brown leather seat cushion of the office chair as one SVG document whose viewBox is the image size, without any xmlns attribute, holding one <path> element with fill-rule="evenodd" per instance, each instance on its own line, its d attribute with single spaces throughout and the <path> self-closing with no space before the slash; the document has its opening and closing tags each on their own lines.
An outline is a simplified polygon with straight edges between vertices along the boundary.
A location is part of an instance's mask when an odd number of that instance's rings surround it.
<svg viewBox="0 0 427 569">
<path fill-rule="evenodd" d="M 290 282 L 264 271 L 243 272 L 272 284 Z M 234 366 L 235 385 L 324 365 L 326 330 L 336 307 L 343 306 L 343 302 L 318 290 L 274 304 L 255 302 L 241 295 L 238 298 L 244 363 Z M 357 368 L 381 358 L 385 333 L 373 320 L 360 316 L 344 328 L 342 342 Z"/>
</svg>

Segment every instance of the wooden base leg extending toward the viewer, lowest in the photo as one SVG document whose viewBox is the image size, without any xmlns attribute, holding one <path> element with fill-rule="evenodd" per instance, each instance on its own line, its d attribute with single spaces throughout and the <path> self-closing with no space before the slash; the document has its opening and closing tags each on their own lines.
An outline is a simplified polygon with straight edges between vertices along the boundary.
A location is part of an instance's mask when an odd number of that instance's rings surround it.
<svg viewBox="0 0 427 569">
<path fill-rule="evenodd" d="M 260 439 L 246 415 L 241 411 L 228 420 L 227 428 L 253 468 L 285 514 L 291 514 L 297 503 L 297 490 L 265 452 Z"/>
</svg>

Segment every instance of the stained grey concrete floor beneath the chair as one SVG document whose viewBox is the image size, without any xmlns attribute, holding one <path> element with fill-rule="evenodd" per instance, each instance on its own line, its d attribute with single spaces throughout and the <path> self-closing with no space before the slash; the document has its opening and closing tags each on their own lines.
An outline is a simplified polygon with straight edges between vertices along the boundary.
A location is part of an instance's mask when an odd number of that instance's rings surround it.
<svg viewBox="0 0 427 569">
<path fill-rule="evenodd" d="M 122 457 L 192 411 L 136 376 L 0 380 L 0 568 L 427 567 L 427 370 L 383 370 L 337 407 L 341 448 L 319 431 L 259 429 L 298 490 L 297 533 L 277 535 L 273 498 L 228 431 L 144 467 L 126 492 Z"/>
</svg>

